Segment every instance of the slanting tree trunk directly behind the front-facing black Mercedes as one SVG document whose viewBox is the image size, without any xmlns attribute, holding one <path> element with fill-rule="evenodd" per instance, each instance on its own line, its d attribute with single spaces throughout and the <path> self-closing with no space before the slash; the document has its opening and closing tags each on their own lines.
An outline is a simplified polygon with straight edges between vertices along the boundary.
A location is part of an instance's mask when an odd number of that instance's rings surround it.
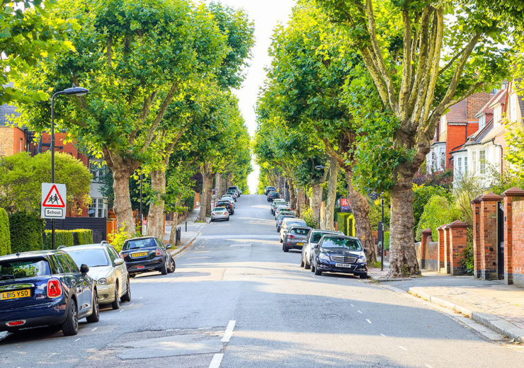
<svg viewBox="0 0 524 368">
<path fill-rule="evenodd" d="M 362 195 L 353 187 L 353 171 L 351 168 L 346 169 L 346 180 L 349 186 L 349 200 L 351 202 L 351 212 L 355 217 L 355 236 L 366 249 L 366 258 L 368 261 L 377 260 L 375 253 L 375 244 L 372 242 L 371 224 L 370 224 L 370 204 L 368 198 Z"/>
</svg>

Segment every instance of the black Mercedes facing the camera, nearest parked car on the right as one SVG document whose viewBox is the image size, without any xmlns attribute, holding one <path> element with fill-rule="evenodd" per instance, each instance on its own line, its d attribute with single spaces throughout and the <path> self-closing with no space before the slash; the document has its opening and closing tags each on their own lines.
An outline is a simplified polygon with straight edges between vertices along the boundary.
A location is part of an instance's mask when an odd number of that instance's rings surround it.
<svg viewBox="0 0 524 368">
<path fill-rule="evenodd" d="M 353 273 L 361 279 L 368 277 L 365 249 L 358 238 L 342 235 L 324 235 L 312 249 L 311 271 Z"/>
</svg>

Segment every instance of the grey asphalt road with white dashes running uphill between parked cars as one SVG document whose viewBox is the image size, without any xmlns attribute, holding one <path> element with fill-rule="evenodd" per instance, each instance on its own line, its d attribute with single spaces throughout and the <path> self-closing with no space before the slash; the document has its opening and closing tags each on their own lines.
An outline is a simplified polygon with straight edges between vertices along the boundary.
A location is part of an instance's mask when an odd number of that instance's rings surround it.
<svg viewBox="0 0 524 368">
<path fill-rule="evenodd" d="M 423 301 L 301 269 L 262 195 L 189 230 L 174 274 L 135 277 L 132 301 L 78 335 L 1 333 L 0 367 L 524 367 L 522 349 Z"/>
</svg>

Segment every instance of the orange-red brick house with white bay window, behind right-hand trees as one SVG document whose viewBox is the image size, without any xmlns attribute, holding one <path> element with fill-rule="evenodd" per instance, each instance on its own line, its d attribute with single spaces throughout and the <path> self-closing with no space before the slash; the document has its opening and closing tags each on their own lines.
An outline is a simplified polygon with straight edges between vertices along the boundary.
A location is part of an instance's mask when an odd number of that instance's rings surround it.
<svg viewBox="0 0 524 368">
<path fill-rule="evenodd" d="M 479 130 L 477 113 L 493 96 L 494 93 L 474 93 L 452 105 L 448 113 L 440 117 L 431 151 L 426 156 L 428 172 L 444 171 L 453 167 L 452 151 L 460 148 L 471 134 Z"/>
</svg>

